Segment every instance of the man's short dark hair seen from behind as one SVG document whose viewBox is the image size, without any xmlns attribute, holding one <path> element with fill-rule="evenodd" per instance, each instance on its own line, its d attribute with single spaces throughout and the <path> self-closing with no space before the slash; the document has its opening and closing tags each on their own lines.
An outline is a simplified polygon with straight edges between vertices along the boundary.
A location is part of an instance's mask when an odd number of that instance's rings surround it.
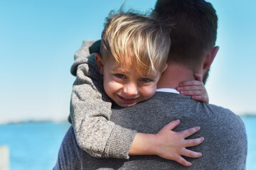
<svg viewBox="0 0 256 170">
<path fill-rule="evenodd" d="M 196 70 L 215 45 L 218 17 L 213 6 L 204 0 L 158 0 L 152 14 L 174 23 L 168 62 Z"/>
</svg>

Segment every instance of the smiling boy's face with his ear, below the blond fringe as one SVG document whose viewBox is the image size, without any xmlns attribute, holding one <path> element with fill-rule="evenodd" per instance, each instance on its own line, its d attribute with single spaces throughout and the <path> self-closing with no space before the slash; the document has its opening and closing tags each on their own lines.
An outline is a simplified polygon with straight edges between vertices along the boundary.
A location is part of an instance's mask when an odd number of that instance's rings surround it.
<svg viewBox="0 0 256 170">
<path fill-rule="evenodd" d="M 111 60 L 103 64 L 100 55 L 95 59 L 103 74 L 105 92 L 118 106 L 134 106 L 155 94 L 160 72 L 142 76 L 129 61 L 122 64 L 124 67 L 117 67 Z"/>
</svg>

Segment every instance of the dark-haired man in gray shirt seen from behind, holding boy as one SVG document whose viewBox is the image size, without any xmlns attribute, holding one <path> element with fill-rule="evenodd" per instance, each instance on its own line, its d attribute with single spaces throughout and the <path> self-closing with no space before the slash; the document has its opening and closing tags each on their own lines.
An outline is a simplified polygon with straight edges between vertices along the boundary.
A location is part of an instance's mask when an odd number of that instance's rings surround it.
<svg viewBox="0 0 256 170">
<path fill-rule="evenodd" d="M 206 82 L 210 64 L 218 52 L 214 47 L 217 16 L 211 4 L 203 0 L 159 0 L 153 15 L 174 23 L 171 31 L 169 67 L 162 74 L 158 92 L 149 101 L 131 108 L 112 108 L 111 120 L 123 128 L 156 133 L 170 120 L 181 120 L 175 130 L 200 126 L 191 136 L 203 136 L 200 159 L 188 159 L 188 169 L 245 169 L 247 139 L 242 120 L 228 109 L 191 100 L 175 90 L 183 81 L 203 75 Z M 122 118 L 122 119 L 121 119 Z M 131 156 L 125 159 L 99 159 L 78 147 L 73 128 L 68 130 L 60 148 L 57 168 L 61 169 L 187 169 L 173 161 L 156 156 Z"/>
</svg>

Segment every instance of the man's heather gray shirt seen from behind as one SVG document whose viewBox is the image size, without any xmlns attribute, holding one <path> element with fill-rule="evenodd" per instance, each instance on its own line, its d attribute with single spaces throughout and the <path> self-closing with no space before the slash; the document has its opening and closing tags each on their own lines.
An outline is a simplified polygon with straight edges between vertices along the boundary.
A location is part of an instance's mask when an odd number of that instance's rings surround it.
<svg viewBox="0 0 256 170">
<path fill-rule="evenodd" d="M 188 96 L 156 92 L 148 101 L 130 108 L 113 106 L 110 120 L 124 128 L 156 133 L 176 119 L 180 119 L 181 124 L 175 131 L 199 125 L 201 130 L 190 138 L 205 137 L 201 145 L 190 148 L 203 153 L 198 159 L 186 158 L 192 162 L 191 167 L 156 156 L 131 156 L 129 160 L 91 157 L 78 147 L 70 128 L 60 147 L 55 169 L 245 169 L 245 126 L 240 117 L 228 109 L 193 101 Z M 113 135 L 118 138 L 123 134 Z"/>
</svg>

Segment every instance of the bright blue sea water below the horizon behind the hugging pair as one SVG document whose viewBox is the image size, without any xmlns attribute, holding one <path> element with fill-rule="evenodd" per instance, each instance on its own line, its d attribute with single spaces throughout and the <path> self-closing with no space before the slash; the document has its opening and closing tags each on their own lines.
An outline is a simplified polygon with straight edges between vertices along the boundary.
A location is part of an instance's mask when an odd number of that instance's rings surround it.
<svg viewBox="0 0 256 170">
<path fill-rule="evenodd" d="M 256 117 L 244 117 L 242 120 L 248 139 L 247 170 L 256 170 Z M 6 145 L 10 149 L 11 170 L 53 169 L 69 127 L 67 122 L 0 125 L 0 146 Z"/>
</svg>

